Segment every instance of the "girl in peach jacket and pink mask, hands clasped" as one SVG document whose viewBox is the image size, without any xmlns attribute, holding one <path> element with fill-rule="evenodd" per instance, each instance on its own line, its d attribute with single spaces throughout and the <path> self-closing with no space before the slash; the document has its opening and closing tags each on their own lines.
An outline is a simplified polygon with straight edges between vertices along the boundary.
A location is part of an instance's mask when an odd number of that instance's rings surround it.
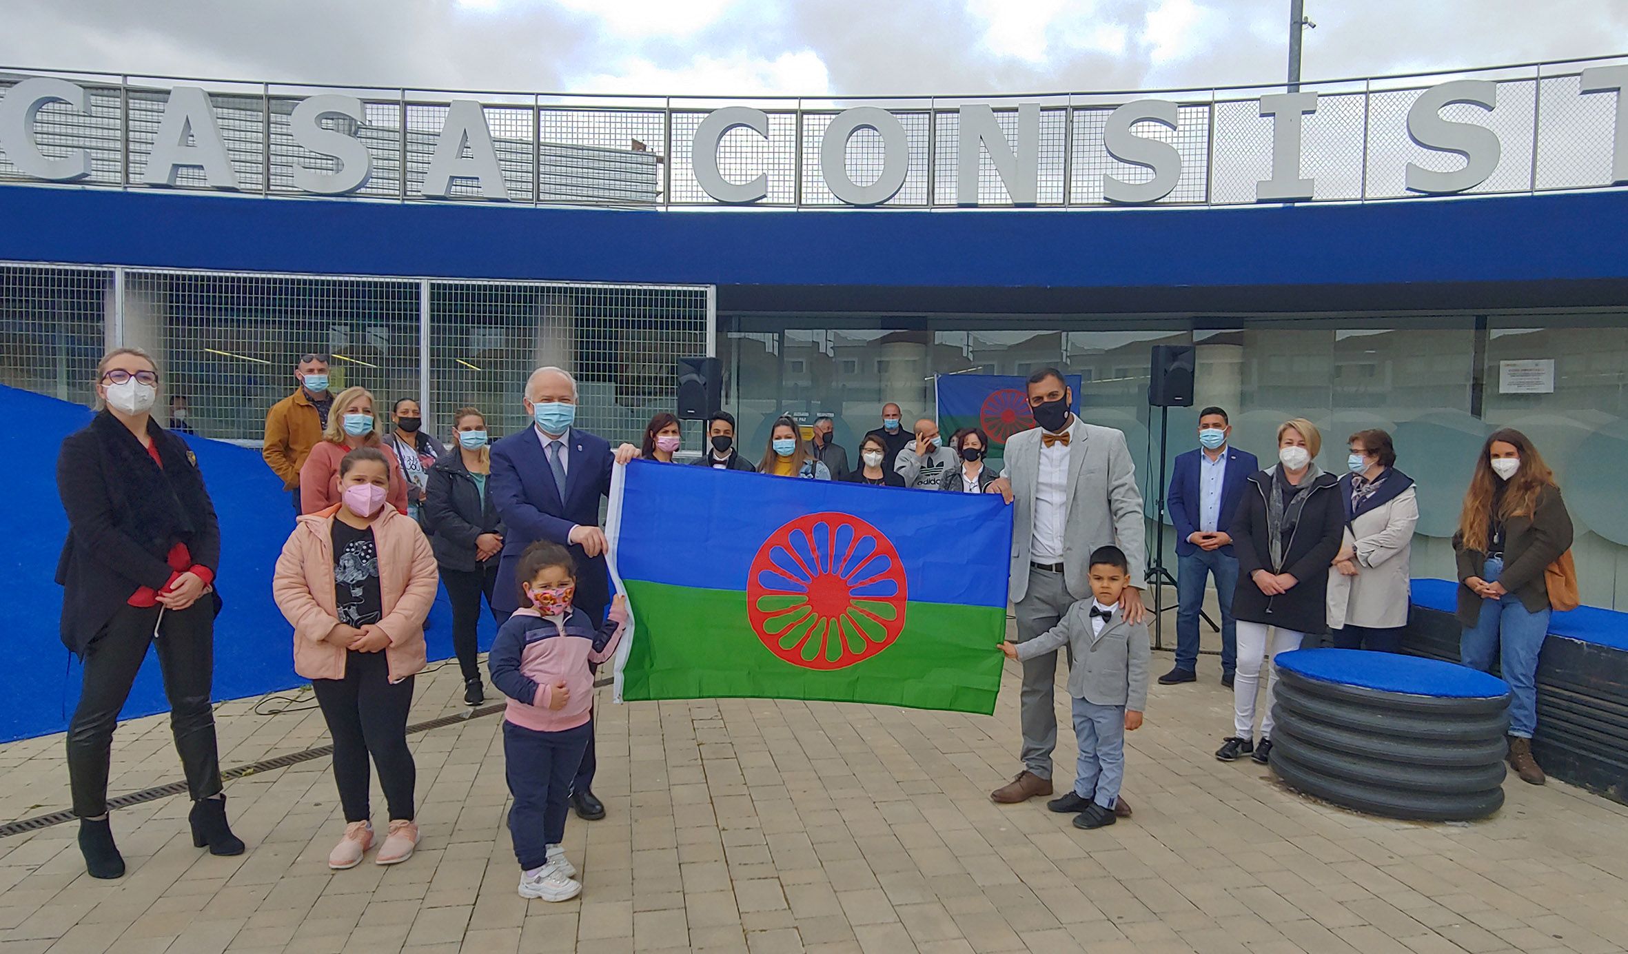
<svg viewBox="0 0 1628 954">
<path fill-rule="evenodd" d="M 340 503 L 300 518 L 272 578 L 277 607 L 295 627 L 295 672 L 311 680 L 334 736 L 345 811 L 345 837 L 327 856 L 334 869 L 355 868 L 373 847 L 370 755 L 391 811 L 374 860 L 405 861 L 418 843 L 407 710 L 440 573 L 418 523 L 386 506 L 389 477 L 376 448 L 345 454 Z"/>
</svg>

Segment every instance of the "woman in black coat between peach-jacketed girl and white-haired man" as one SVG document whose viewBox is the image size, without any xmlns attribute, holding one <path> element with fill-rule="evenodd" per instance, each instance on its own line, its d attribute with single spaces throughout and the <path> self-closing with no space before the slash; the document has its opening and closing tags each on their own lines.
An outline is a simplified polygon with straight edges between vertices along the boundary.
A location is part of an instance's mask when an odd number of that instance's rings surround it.
<svg viewBox="0 0 1628 954">
<path fill-rule="evenodd" d="M 487 448 L 487 418 L 474 407 L 453 415 L 457 446 L 430 467 L 425 493 L 425 516 L 435 536 L 435 562 L 441 565 L 441 583 L 453 604 L 453 653 L 464 671 L 464 702 L 480 705 L 480 663 L 475 659 L 475 627 L 480 624 L 480 597 L 487 597 L 492 619 L 492 593 L 498 581 L 498 555 L 503 552 L 503 521 L 498 519 L 487 479 L 492 456 Z"/>
</svg>

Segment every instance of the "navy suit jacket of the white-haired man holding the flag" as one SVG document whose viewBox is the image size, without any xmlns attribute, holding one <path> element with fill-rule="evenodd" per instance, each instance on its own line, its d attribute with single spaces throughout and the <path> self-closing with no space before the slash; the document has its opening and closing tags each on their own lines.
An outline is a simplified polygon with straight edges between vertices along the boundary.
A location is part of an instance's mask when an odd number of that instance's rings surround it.
<svg viewBox="0 0 1628 954">
<path fill-rule="evenodd" d="M 570 542 L 573 526 L 599 526 L 599 500 L 610 493 L 614 457 L 604 438 L 571 428 L 565 435 L 565 488 L 555 487 L 554 467 L 542 453 L 536 427 L 492 444 L 492 501 L 503 518 L 503 554 L 492 604 L 503 612 L 519 609 L 514 567 L 526 547 L 554 540 L 576 558 L 576 609 L 597 625 L 610 604 L 606 560 L 589 557 Z"/>
</svg>

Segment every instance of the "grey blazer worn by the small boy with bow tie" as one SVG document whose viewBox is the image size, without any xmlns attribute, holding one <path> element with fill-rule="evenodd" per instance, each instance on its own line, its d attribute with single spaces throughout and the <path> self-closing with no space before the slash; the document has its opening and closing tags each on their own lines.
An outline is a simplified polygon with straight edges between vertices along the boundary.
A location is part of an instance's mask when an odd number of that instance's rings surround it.
<svg viewBox="0 0 1628 954">
<path fill-rule="evenodd" d="M 1073 651 L 1068 695 L 1094 705 L 1148 708 L 1148 624 L 1130 625 L 1118 607 L 1101 633 L 1092 633 L 1091 599 L 1068 607 L 1061 622 L 1032 640 L 1017 643 L 1019 659 L 1055 653 L 1063 643 Z"/>
</svg>

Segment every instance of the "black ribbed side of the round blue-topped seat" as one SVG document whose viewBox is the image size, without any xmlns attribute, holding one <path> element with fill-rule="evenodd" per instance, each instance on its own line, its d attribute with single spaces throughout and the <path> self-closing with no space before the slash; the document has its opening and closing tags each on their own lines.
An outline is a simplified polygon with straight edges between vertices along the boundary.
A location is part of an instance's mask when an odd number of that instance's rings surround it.
<svg viewBox="0 0 1628 954">
<path fill-rule="evenodd" d="M 1480 819 L 1504 803 L 1508 708 L 1508 692 L 1416 695 L 1280 666 L 1271 768 L 1294 790 L 1376 816 Z"/>
</svg>

